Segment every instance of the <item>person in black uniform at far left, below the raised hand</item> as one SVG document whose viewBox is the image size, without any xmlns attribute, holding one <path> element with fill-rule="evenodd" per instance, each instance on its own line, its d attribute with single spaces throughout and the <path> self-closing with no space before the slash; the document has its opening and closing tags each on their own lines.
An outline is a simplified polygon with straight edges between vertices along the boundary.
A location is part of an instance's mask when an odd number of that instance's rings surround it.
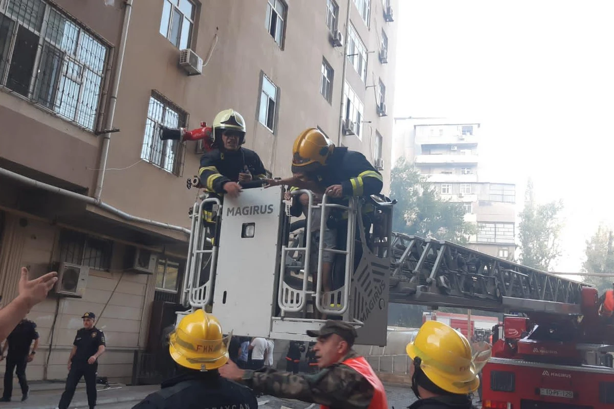
<svg viewBox="0 0 614 409">
<path fill-rule="evenodd" d="M 17 327 L 6 338 L 6 343 L 1 349 L 0 361 L 4 359 L 4 351 L 8 348 L 6 354 L 6 370 L 4 371 L 4 392 L 0 402 L 10 402 L 10 397 L 13 394 L 13 371 L 17 370 L 17 379 L 21 386 L 21 402 L 28 399 L 28 381 L 26 380 L 26 365 L 34 359 L 36 348 L 38 348 L 39 334 L 36 330 L 36 324 L 29 319 L 22 319 Z M 30 346 L 34 341 L 32 352 Z"/>
</svg>

